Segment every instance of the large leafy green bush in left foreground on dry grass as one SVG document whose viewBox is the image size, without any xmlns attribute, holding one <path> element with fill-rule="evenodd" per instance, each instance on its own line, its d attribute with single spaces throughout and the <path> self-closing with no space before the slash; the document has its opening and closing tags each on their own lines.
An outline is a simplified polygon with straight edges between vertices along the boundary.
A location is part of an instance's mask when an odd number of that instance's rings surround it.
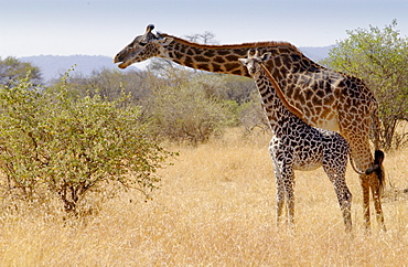
<svg viewBox="0 0 408 267">
<path fill-rule="evenodd" d="M 146 194 L 157 188 L 155 172 L 172 153 L 149 140 L 128 96 L 75 99 L 64 84 L 53 93 L 26 79 L 0 87 L 0 171 L 8 193 L 51 195 L 76 213 L 86 194 L 108 182 Z"/>
</svg>

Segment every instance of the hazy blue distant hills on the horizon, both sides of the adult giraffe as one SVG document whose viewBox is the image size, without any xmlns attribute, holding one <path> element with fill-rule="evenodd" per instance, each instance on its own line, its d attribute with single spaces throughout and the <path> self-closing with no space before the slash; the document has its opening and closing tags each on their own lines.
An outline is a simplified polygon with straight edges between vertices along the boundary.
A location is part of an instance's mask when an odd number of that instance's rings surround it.
<svg viewBox="0 0 408 267">
<path fill-rule="evenodd" d="M 322 47 L 299 47 L 309 58 L 319 62 L 325 58 L 329 51 L 334 47 L 322 46 Z M 53 78 L 58 78 L 68 68 L 75 66 L 75 74 L 82 74 L 88 76 L 93 71 L 103 68 L 120 70 L 116 64 L 112 63 L 112 58 L 104 55 L 34 55 L 34 56 L 22 56 L 22 62 L 30 62 L 34 66 L 40 67 L 43 76 L 43 81 L 47 83 Z M 143 68 L 146 64 L 138 64 L 139 67 Z M 138 70 L 135 65 L 127 70 Z"/>
</svg>

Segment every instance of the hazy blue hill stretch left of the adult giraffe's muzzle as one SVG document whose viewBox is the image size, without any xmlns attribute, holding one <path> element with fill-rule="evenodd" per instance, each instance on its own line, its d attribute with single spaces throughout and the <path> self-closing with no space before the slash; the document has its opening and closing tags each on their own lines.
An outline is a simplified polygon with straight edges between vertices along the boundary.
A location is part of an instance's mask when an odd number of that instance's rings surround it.
<svg viewBox="0 0 408 267">
<path fill-rule="evenodd" d="M 75 64 L 74 73 L 84 76 L 90 75 L 93 71 L 103 68 L 119 70 L 118 66 L 112 63 L 111 57 L 103 55 L 34 55 L 22 56 L 20 60 L 40 67 L 45 83 L 50 79 L 58 78 Z M 132 66 L 132 70 L 137 68 Z"/>
</svg>

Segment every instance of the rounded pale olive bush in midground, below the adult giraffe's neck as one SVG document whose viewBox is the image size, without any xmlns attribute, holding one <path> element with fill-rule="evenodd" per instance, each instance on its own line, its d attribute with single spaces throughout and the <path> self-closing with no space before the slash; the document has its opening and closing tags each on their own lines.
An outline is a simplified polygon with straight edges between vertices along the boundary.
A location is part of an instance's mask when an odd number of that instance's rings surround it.
<svg viewBox="0 0 408 267">
<path fill-rule="evenodd" d="M 196 145 L 223 134 L 233 119 L 232 105 L 207 94 L 212 79 L 206 76 L 186 77 L 152 93 L 146 113 L 157 136 Z"/>
</svg>

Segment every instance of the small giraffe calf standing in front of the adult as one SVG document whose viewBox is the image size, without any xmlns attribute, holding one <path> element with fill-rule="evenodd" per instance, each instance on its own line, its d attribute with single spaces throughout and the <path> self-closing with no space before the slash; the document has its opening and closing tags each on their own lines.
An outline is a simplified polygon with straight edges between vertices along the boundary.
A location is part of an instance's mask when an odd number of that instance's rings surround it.
<svg viewBox="0 0 408 267">
<path fill-rule="evenodd" d="M 337 132 L 309 126 L 298 116 L 302 114 L 291 106 L 279 85 L 262 64 L 270 53 L 250 55 L 239 61 L 248 68 L 262 98 L 264 109 L 272 131 L 269 152 L 272 158 L 277 184 L 277 223 L 280 224 L 284 200 L 289 222 L 293 225 L 294 172 L 323 167 L 337 195 L 346 232 L 352 229 L 352 193 L 345 183 L 350 147 Z M 298 116 L 296 116 L 297 114 Z"/>
</svg>

